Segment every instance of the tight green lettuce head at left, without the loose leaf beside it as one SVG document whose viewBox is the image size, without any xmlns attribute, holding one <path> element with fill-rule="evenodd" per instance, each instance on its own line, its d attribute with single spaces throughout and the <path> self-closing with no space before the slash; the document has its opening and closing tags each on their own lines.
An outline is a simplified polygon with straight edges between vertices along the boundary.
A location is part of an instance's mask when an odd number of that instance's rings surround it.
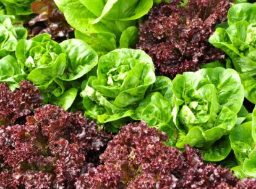
<svg viewBox="0 0 256 189">
<path fill-rule="evenodd" d="M 47 88 L 67 66 L 65 50 L 49 34 L 19 41 L 15 54 L 27 79 L 36 86 Z"/>
</svg>

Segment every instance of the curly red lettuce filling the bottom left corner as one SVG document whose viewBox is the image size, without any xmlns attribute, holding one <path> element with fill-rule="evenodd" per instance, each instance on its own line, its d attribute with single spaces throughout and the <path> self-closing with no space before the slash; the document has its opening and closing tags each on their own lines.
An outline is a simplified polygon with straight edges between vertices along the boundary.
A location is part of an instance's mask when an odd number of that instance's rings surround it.
<svg viewBox="0 0 256 189">
<path fill-rule="evenodd" d="M 29 81 L 0 84 L 1 188 L 74 188 L 111 139 L 82 113 L 42 105 Z"/>
</svg>

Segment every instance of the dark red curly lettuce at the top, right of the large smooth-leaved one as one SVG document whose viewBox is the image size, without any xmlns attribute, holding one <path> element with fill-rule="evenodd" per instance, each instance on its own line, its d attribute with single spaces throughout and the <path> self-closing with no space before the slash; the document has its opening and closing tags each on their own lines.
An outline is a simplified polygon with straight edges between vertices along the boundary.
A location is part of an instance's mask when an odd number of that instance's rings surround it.
<svg viewBox="0 0 256 189">
<path fill-rule="evenodd" d="M 140 24 L 139 44 L 153 58 L 159 74 L 174 78 L 184 71 L 196 71 L 199 65 L 224 59 L 208 38 L 216 24 L 224 22 L 228 0 L 162 1 L 153 6 L 148 19 Z"/>
</svg>

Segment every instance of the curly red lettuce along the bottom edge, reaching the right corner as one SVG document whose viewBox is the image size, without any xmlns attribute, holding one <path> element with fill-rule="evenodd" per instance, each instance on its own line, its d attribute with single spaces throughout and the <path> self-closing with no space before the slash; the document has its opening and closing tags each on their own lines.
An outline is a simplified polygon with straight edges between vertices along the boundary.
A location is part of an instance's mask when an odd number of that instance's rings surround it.
<svg viewBox="0 0 256 189">
<path fill-rule="evenodd" d="M 77 188 L 254 188 L 228 168 L 203 162 L 195 148 L 163 145 L 167 136 L 145 123 L 128 124 L 108 143 L 101 165 L 82 174 Z"/>
</svg>

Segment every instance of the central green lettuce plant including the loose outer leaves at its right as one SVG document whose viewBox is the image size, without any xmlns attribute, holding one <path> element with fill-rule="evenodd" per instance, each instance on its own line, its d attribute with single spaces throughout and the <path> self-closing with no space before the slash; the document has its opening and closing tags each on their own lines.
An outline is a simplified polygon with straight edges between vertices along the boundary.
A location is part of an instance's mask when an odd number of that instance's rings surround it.
<svg viewBox="0 0 256 189">
<path fill-rule="evenodd" d="M 85 116 L 117 132 L 134 120 L 166 132 L 176 142 L 173 123 L 173 84 L 155 76 L 151 58 L 142 50 L 116 49 L 100 57 L 97 76 L 83 82 Z"/>
</svg>

